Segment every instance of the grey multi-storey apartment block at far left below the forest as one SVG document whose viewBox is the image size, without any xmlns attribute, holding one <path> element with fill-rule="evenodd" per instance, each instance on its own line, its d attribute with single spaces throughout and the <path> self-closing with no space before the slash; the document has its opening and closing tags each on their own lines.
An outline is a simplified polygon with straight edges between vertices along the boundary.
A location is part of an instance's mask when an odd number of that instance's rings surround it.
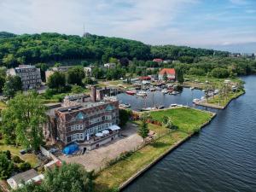
<svg viewBox="0 0 256 192">
<path fill-rule="evenodd" d="M 8 74 L 20 76 L 23 90 L 38 89 L 42 83 L 40 69 L 34 66 L 20 65 L 9 69 Z"/>
</svg>

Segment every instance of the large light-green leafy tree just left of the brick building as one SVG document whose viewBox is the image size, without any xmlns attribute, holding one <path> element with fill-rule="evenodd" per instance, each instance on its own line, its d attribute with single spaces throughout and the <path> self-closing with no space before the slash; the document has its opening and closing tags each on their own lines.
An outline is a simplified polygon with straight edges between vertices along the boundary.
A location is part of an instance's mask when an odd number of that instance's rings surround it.
<svg viewBox="0 0 256 192">
<path fill-rule="evenodd" d="M 18 93 L 2 111 L 3 138 L 11 134 L 16 144 L 38 150 L 44 138 L 42 124 L 46 120 L 45 112 L 46 108 L 36 92 Z"/>
</svg>

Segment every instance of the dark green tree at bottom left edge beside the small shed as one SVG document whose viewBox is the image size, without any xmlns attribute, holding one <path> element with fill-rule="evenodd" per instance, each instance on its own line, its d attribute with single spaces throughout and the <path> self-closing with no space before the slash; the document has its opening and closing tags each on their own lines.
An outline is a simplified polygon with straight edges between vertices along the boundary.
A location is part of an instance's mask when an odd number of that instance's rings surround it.
<svg viewBox="0 0 256 192">
<path fill-rule="evenodd" d="M 9 178 L 13 170 L 14 164 L 12 161 L 7 158 L 6 154 L 0 154 L 0 178 Z"/>
</svg>

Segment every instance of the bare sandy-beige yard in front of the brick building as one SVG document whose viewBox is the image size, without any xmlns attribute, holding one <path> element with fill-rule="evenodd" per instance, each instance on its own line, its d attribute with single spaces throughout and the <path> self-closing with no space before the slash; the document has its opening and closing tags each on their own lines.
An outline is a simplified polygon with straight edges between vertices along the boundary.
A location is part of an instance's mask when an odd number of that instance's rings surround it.
<svg viewBox="0 0 256 192">
<path fill-rule="evenodd" d="M 109 160 L 115 159 L 122 152 L 131 151 L 143 143 L 143 138 L 137 135 L 136 125 L 127 124 L 125 130 L 121 131 L 120 134 L 126 137 L 119 137 L 85 154 L 69 157 L 61 155 L 59 158 L 65 160 L 67 163 L 82 164 L 88 171 L 99 170 L 100 167 L 106 166 Z"/>
</svg>

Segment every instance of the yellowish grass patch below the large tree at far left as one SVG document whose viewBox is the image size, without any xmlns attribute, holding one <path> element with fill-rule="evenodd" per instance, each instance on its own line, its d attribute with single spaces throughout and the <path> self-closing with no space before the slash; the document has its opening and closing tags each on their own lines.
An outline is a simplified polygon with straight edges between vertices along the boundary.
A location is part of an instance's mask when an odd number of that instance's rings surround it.
<svg viewBox="0 0 256 192">
<path fill-rule="evenodd" d="M 32 167 L 37 166 L 37 164 L 38 164 L 37 156 L 35 154 L 22 154 L 21 155 L 20 154 L 21 149 L 22 148 L 20 146 L 16 148 L 13 145 L 6 145 L 3 143 L 0 143 L 0 150 L 2 150 L 2 151 L 9 150 L 11 152 L 11 154 L 18 155 L 18 156 L 20 156 L 20 158 L 22 160 L 29 162 Z"/>
</svg>

